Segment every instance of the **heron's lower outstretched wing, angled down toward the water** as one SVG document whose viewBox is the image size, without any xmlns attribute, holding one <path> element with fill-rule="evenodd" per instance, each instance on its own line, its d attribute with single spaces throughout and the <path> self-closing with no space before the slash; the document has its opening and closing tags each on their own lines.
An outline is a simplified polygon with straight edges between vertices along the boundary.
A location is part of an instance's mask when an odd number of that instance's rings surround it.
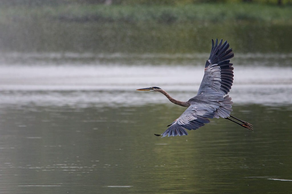
<svg viewBox="0 0 292 194">
<path fill-rule="evenodd" d="M 168 129 L 161 135 L 162 137 L 187 135 L 185 129 L 195 130 L 209 123 L 208 118 L 213 118 L 218 108 L 217 104 L 193 103 L 178 119 L 168 125 Z"/>
</svg>

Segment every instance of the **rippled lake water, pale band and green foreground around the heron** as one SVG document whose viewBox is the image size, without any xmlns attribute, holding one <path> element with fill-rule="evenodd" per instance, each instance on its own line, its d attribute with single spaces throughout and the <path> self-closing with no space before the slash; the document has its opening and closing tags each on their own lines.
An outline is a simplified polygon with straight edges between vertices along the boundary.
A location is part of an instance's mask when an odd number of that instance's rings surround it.
<svg viewBox="0 0 292 194">
<path fill-rule="evenodd" d="M 0 54 L 0 193 L 291 193 L 292 55 L 236 54 L 232 114 L 159 138 L 207 53 Z"/>
</svg>

